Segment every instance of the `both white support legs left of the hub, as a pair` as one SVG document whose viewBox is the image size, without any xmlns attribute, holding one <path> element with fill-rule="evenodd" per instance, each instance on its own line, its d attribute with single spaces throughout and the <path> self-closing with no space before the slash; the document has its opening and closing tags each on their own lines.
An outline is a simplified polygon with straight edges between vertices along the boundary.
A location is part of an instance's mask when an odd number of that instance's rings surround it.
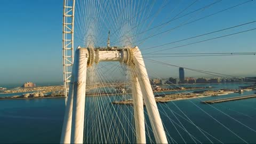
<svg viewBox="0 0 256 144">
<path fill-rule="evenodd" d="M 60 143 L 83 143 L 87 49 L 76 50 Z"/>
</svg>

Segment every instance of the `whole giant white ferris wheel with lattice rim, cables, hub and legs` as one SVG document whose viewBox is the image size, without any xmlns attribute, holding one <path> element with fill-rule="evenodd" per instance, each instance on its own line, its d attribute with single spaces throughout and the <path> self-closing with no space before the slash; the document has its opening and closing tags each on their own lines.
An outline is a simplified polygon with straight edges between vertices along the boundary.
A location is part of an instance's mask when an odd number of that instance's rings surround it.
<svg viewBox="0 0 256 144">
<path fill-rule="evenodd" d="M 150 82 L 148 72 L 149 68 L 145 66 L 144 60 L 154 63 L 154 69 L 157 69 L 159 65 L 164 67 L 180 67 L 172 65 L 167 62 L 153 60 L 153 58 L 171 58 L 171 57 L 206 57 L 206 56 L 222 56 L 222 55 L 251 55 L 254 53 L 172 53 L 166 52 L 171 49 L 177 49 L 183 46 L 191 46 L 198 43 L 212 41 L 213 39 L 219 39 L 223 37 L 233 36 L 236 34 L 242 34 L 247 31 L 254 29 L 239 31 L 236 33 L 221 35 L 208 39 L 199 39 L 202 36 L 215 34 L 220 31 L 230 30 L 245 25 L 250 25 L 254 22 L 242 23 L 237 26 L 231 26 L 220 30 L 210 31 L 205 34 L 198 34 L 196 36 L 186 37 L 177 41 L 166 40 L 163 35 L 168 35 L 172 30 L 180 27 L 189 25 L 190 23 L 203 20 L 211 17 L 212 15 L 225 12 L 233 9 L 239 5 L 249 3 L 249 1 L 242 2 L 220 10 L 218 12 L 204 15 L 201 18 L 197 18 L 197 14 L 200 14 L 204 10 L 208 9 L 214 4 L 218 4 L 221 1 L 206 3 L 205 5 L 199 5 L 190 12 L 184 14 L 191 6 L 197 1 L 191 2 L 185 7 L 182 7 L 174 17 L 167 14 L 166 17 L 161 17 L 162 21 L 155 20 L 157 15 L 162 9 L 169 9 L 167 5 L 170 1 L 165 1 L 163 4 L 156 4 L 157 9 L 153 11 L 153 6 L 157 1 L 147 0 L 126 0 L 126 1 L 77 1 L 77 0 L 63 0 L 63 28 L 62 28 L 62 64 L 63 64 L 63 84 L 65 89 L 66 97 L 66 112 L 65 119 L 62 129 L 61 142 L 63 143 L 146 143 L 146 142 L 157 142 L 167 143 L 175 140 L 171 137 L 170 133 L 174 130 L 167 129 L 169 126 L 162 123 L 162 116 L 168 118 L 170 125 L 174 125 L 174 121 L 169 117 L 169 112 L 173 115 L 173 111 L 166 107 L 166 105 L 156 105 L 156 95 L 165 95 L 165 92 L 153 93 L 154 79 Z M 175 3 L 173 11 L 176 10 L 176 6 L 180 3 Z M 76 7 L 76 11 L 75 11 Z M 197 9 L 198 8 L 198 9 Z M 172 10 L 166 10 L 172 12 Z M 163 11 L 163 13 L 166 13 Z M 164 15 L 165 16 L 165 15 Z M 188 18 L 186 18 L 188 16 Z M 172 21 L 179 20 L 185 17 L 178 26 L 168 27 L 163 29 L 165 26 L 169 26 Z M 75 20 L 76 18 L 76 20 Z M 197 18 L 197 19 L 194 19 Z M 190 21 L 192 20 L 192 21 Z M 158 23 L 151 27 L 151 23 L 157 21 Z M 74 29 L 75 27 L 75 29 Z M 111 29 L 111 41 L 110 41 L 110 29 Z M 114 30 L 114 31 L 113 31 Z M 149 33 L 148 33 L 149 32 Z M 177 34 L 179 35 L 179 34 Z M 143 47 L 143 43 L 151 37 L 160 36 L 154 41 L 151 41 L 147 47 Z M 75 37 L 75 38 L 74 38 Z M 197 41 L 192 40 L 194 38 Z M 113 40 L 113 42 L 112 42 Z M 164 42 L 162 40 L 166 40 Z M 186 42 L 177 44 L 179 42 Z M 191 40 L 191 42 L 190 42 Z M 79 42 L 78 42 L 79 41 Z M 78 44 L 81 46 L 78 46 Z M 164 44 L 163 44 L 164 43 Z M 77 44 L 77 45 L 76 45 Z M 113 44 L 113 46 L 112 46 Z M 174 44 L 170 46 L 170 44 Z M 177 45 L 176 45 L 177 44 Z M 76 51 L 74 45 L 78 46 Z M 105 46 L 102 46 L 105 45 Z M 118 45 L 118 46 L 116 46 Z M 139 46 L 138 46 L 139 45 Z M 139 47 L 142 49 L 139 49 Z M 158 49 L 159 48 L 159 49 Z M 144 51 L 146 50 L 146 51 Z M 146 53 L 144 53 L 146 52 Z M 159 53 L 164 52 L 164 53 Z M 166 53 L 165 53 L 166 52 Z M 176 55 L 175 55 L 176 54 Z M 145 56 L 145 57 L 142 57 Z M 83 58 L 82 58 L 83 57 Z M 169 60 L 169 59 L 168 59 Z M 101 65 L 100 61 L 107 63 L 109 66 Z M 117 65 L 111 63 L 116 62 Z M 81 64 L 82 63 L 82 64 Z M 95 63 L 95 64 L 94 64 Z M 83 66 L 82 66 L 83 65 Z M 119 68 L 121 66 L 121 68 Z M 181 67 L 180 67 L 181 68 Z M 83 71 L 78 72 L 79 69 Z M 103 71 L 105 69 L 106 71 Z M 193 68 L 182 67 L 191 71 L 196 71 L 203 74 L 210 74 L 211 76 L 231 76 L 220 73 L 214 73 L 206 70 L 198 70 Z M 87 71 L 86 71 L 87 70 Z M 124 82 L 116 82 L 111 79 L 111 76 L 116 76 L 115 71 L 122 73 Z M 158 69 L 158 71 L 161 71 Z M 73 73 L 74 72 L 74 73 Z M 86 73 L 87 72 L 87 73 Z M 79 74 L 80 73 L 80 74 Z M 76 79 L 78 75 L 83 75 L 85 79 L 79 86 L 79 83 L 74 82 L 71 78 L 75 74 Z M 87 74 L 87 75 L 86 75 Z M 156 73 L 153 74 L 157 77 Z M 184 71 L 183 71 L 184 75 Z M 86 77 L 87 76 L 87 77 Z M 87 78 L 87 79 L 86 79 Z M 106 78 L 106 81 L 102 81 Z M 158 77 L 159 78 L 159 77 Z M 184 80 L 183 76 L 183 80 Z M 109 80 L 110 79 L 110 80 Z M 159 78 L 160 79 L 160 78 Z M 159 80 L 158 79 L 158 80 Z M 115 79 L 114 79 L 115 80 Z M 157 79 L 156 79 L 157 80 Z M 168 80 L 166 80 L 168 81 Z M 87 84 L 89 82 L 89 86 Z M 150 83 L 152 83 L 152 86 Z M 156 81 L 157 82 L 157 81 Z M 179 87 L 178 81 L 169 82 L 167 84 L 170 87 L 177 86 L 178 88 L 173 89 L 177 91 Z M 75 85 L 75 86 L 74 86 Z M 130 87 L 129 87 L 130 86 Z M 156 86 L 156 85 L 154 85 Z M 76 90 L 74 90 L 76 87 Z M 77 91 L 83 89 L 83 91 Z M 173 87 L 172 87 L 173 88 Z M 85 90 L 86 89 L 86 90 Z M 113 92 L 109 89 L 115 90 L 118 97 L 113 96 Z M 130 90 L 130 91 L 129 91 Z M 183 90 L 183 89 L 182 89 Z M 75 92 L 74 92 L 75 91 Z M 186 91 L 186 90 L 185 90 Z M 177 91 L 181 94 L 181 92 Z M 156 95 L 154 95 L 156 94 Z M 170 93 L 167 93 L 170 95 Z M 180 97 L 178 95 L 178 97 Z M 89 97 L 85 98 L 85 95 Z M 119 97 L 119 95 L 122 95 Z M 171 97 L 177 97 L 177 95 L 171 95 Z M 81 101 L 77 100 L 83 99 Z M 99 97 L 98 97 L 99 96 Z M 162 96 L 159 96 L 162 97 Z M 165 96 L 164 96 L 165 97 Z M 172 101 L 175 98 L 169 98 Z M 74 98 L 74 99 L 73 99 Z M 129 103 L 129 105 L 115 105 L 113 103 L 117 100 L 124 98 L 124 101 L 119 103 Z M 85 102 L 85 99 L 89 99 Z M 199 98 L 198 98 L 199 99 Z M 75 102 L 74 102 L 74 101 Z M 71 102 L 70 102 L 71 101 Z M 159 100 L 160 101 L 160 100 Z M 161 102 L 161 101 L 160 101 Z M 163 102 L 163 101 L 162 101 Z M 71 105 L 70 105 L 71 103 Z M 81 105 L 82 103 L 82 105 Z M 86 103 L 86 104 L 85 104 Z M 193 102 L 192 102 L 193 103 Z M 123 104 L 123 103 L 122 103 Z M 194 103 L 193 103 L 194 104 Z M 79 106 L 78 106 L 79 105 Z M 130 105 L 133 105 L 130 107 Z M 143 107 L 146 106 L 146 109 Z M 161 110 L 158 111 L 159 106 Z M 164 107 L 165 106 L 165 107 Z M 79 107 L 79 108 L 78 108 Z M 178 107 L 175 105 L 175 107 Z M 87 111 L 84 109 L 87 108 Z M 74 110 L 75 109 L 75 110 Z M 89 110 L 88 110 L 89 109 Z M 169 109 L 170 111 L 167 111 Z M 178 108 L 179 109 L 179 108 Z M 179 109 L 180 110 L 180 109 Z M 200 109 L 202 110 L 202 109 Z M 77 113 L 79 111 L 79 113 Z M 75 112 L 75 113 L 74 113 Z M 85 114 L 86 112 L 86 114 Z M 175 112 L 175 111 L 174 111 Z M 160 113 L 162 115 L 160 116 Z M 185 113 L 182 112 L 185 115 Z M 75 116 L 74 116 L 75 115 Z M 122 116 L 121 116 L 122 115 Z M 174 115 L 175 116 L 175 115 Z M 186 116 L 186 115 L 185 115 Z M 146 119 L 146 117 L 148 119 Z M 187 116 L 186 116 L 187 117 Z M 175 118 L 177 118 L 175 116 Z M 187 117 L 188 118 L 188 117 Z M 188 118 L 189 119 L 189 118 Z M 179 119 L 177 118 L 179 121 Z M 148 121 L 148 122 L 147 122 Z M 114 123 L 113 123 L 114 122 Z M 189 119 L 189 122 L 191 120 Z M 118 123 L 118 124 L 117 124 Z M 192 142 L 200 142 L 193 135 L 191 135 L 187 129 L 180 123 L 181 130 L 188 133 Z M 179 126 L 179 124 L 176 124 Z M 191 125 L 196 126 L 193 122 Z M 209 133 L 196 126 L 207 140 L 212 142 L 207 134 Z M 166 131 L 167 130 L 167 131 Z M 202 131 L 201 131 L 202 130 Z M 170 132 L 170 133 L 169 133 Z M 255 131 L 256 132 L 256 131 Z M 180 132 L 178 137 L 183 139 Z M 206 133 L 206 134 L 205 134 Z M 71 135 L 71 136 L 70 136 Z M 212 137 L 212 135 L 210 135 Z M 212 137 L 215 139 L 215 137 Z M 238 137 L 240 138 L 240 137 Z M 218 139 L 217 139 L 218 140 Z M 242 139 L 243 140 L 243 139 Z M 209 142 L 207 141 L 207 142 Z M 221 142 L 218 140 L 218 142 Z M 179 142 L 176 142 L 179 143 Z"/>
</svg>

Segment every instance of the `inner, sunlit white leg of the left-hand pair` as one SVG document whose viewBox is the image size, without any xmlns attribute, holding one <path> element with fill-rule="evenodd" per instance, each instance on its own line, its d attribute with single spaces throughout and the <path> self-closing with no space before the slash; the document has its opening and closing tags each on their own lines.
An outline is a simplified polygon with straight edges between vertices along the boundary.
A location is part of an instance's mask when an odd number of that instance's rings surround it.
<svg viewBox="0 0 256 144">
<path fill-rule="evenodd" d="M 89 52 L 78 47 L 75 53 L 74 98 L 71 122 L 71 143 L 83 143 L 86 70 Z"/>
</svg>

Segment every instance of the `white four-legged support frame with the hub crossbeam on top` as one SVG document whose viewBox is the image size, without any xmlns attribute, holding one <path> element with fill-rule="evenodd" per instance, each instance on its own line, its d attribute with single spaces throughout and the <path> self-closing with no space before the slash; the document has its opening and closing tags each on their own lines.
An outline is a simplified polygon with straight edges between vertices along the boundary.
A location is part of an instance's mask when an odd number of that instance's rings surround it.
<svg viewBox="0 0 256 144">
<path fill-rule="evenodd" d="M 136 57 L 134 56 L 134 53 L 136 54 Z M 137 73 L 131 74 L 134 83 L 132 92 L 134 95 L 134 122 L 137 142 L 146 143 L 143 112 L 144 99 L 156 142 L 167 143 L 161 117 L 150 86 L 147 70 L 141 52 L 137 46 L 132 49 L 121 49 L 118 47 L 111 47 L 111 49 L 109 49 L 109 47 L 87 49 L 78 47 L 75 55 L 60 142 L 83 143 L 86 69 L 100 61 L 119 61 L 129 67 L 135 68 Z M 141 87 L 143 87 L 143 89 L 141 89 Z"/>
</svg>

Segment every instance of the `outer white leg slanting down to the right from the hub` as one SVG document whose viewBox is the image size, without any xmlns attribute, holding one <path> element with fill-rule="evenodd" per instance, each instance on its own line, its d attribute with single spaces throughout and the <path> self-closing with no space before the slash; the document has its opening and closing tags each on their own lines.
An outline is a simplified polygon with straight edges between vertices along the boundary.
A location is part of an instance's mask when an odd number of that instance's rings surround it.
<svg viewBox="0 0 256 144">
<path fill-rule="evenodd" d="M 145 101 L 147 113 L 149 116 L 149 121 L 153 129 L 156 143 L 168 143 L 166 134 L 164 131 L 164 127 L 162 124 L 162 120 L 156 105 L 154 93 L 151 89 L 145 63 L 142 59 L 141 52 L 137 46 L 134 47 L 133 54 L 135 55 L 133 57 L 134 64 L 135 64 L 135 67 L 137 68 L 137 71 L 138 71 L 137 73 L 139 73 L 138 78 L 139 78 L 139 83 L 141 87 L 141 92 L 143 95 L 143 99 Z"/>
</svg>

